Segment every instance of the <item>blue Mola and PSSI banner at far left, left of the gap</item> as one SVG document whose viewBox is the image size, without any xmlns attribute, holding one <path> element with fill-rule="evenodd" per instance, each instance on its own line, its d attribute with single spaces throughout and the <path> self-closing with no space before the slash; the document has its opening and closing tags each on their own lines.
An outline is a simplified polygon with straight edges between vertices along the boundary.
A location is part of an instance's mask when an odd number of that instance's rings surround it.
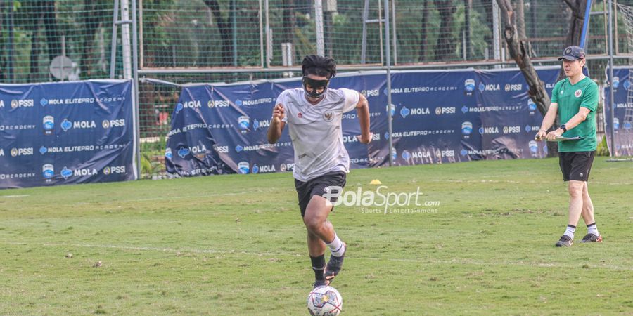
<svg viewBox="0 0 633 316">
<path fill-rule="evenodd" d="M 133 180 L 130 80 L 0 85 L 0 188 Z"/>
</svg>

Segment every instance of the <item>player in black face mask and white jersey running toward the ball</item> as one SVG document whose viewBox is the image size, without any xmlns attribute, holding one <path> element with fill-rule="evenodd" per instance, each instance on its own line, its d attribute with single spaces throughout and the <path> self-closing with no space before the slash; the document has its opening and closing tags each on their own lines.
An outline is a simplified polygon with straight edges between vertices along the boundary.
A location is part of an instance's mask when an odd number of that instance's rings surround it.
<svg viewBox="0 0 633 316">
<path fill-rule="evenodd" d="M 361 143 L 371 140 L 369 104 L 357 91 L 331 89 L 328 83 L 336 74 L 332 58 L 309 55 L 303 59 L 303 88 L 288 89 L 279 95 L 268 129 L 268 141 L 276 143 L 288 125 L 295 149 L 295 189 L 299 208 L 307 229 L 307 246 L 314 287 L 330 284 L 343 267 L 347 244 L 342 242 L 328 214 L 333 206 L 325 197 L 328 187 L 345 186 L 350 171 L 350 157 L 343 145 L 343 113 L 356 109 L 360 121 Z M 326 246 L 331 251 L 325 263 Z"/>
</svg>

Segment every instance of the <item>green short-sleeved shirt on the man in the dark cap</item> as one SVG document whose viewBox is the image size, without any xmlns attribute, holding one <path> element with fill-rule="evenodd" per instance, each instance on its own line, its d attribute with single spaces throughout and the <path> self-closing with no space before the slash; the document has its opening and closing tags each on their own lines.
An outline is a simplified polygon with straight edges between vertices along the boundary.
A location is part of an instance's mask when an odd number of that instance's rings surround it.
<svg viewBox="0 0 633 316">
<path fill-rule="evenodd" d="M 578 114 L 580 107 L 587 107 L 591 110 L 587 114 L 587 119 L 580 122 L 573 129 L 569 129 L 563 136 L 582 137 L 581 140 L 566 140 L 558 143 L 558 152 L 593 152 L 598 147 L 596 140 L 596 110 L 598 110 L 598 85 L 589 77 L 570 84 L 569 78 L 565 78 L 556 83 L 551 91 L 551 102 L 558 103 L 558 115 L 561 117 L 561 124 L 565 124 L 575 114 Z"/>
</svg>

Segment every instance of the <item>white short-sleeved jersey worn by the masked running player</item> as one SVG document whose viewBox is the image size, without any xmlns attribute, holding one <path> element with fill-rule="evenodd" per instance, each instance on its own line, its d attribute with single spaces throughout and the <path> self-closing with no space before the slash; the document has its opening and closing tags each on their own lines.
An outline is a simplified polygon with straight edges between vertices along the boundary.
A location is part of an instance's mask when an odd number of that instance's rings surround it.
<svg viewBox="0 0 633 316">
<path fill-rule="evenodd" d="M 357 91 L 328 88 L 316 105 L 305 98 L 302 88 L 283 91 L 277 103 L 283 105 L 290 139 L 295 148 L 293 176 L 302 182 L 328 172 L 350 172 L 350 156 L 343 145 L 340 122 L 343 113 L 356 108 L 360 95 Z"/>
</svg>

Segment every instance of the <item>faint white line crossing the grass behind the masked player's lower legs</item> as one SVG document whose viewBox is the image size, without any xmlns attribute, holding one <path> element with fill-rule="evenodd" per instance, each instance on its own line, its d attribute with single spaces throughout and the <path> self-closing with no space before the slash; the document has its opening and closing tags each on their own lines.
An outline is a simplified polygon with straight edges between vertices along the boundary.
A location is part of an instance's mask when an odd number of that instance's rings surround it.
<svg viewBox="0 0 633 316">
<path fill-rule="evenodd" d="M 27 244 L 25 242 L 1 242 L 2 244 L 13 244 L 13 245 L 23 245 L 29 246 L 32 244 Z M 223 254 L 223 255 L 231 255 L 231 254 L 244 254 L 249 256 L 294 256 L 301 257 L 305 256 L 305 254 L 291 253 L 291 252 L 279 252 L 279 253 L 270 253 L 270 252 L 254 252 L 254 251 L 239 251 L 239 250 L 217 250 L 217 249 L 173 249 L 173 248 L 160 248 L 160 247 L 142 247 L 142 246 L 120 246 L 114 244 L 39 244 L 39 246 L 47 246 L 47 247 L 82 247 L 82 248 L 101 248 L 101 249 L 122 249 L 122 250 L 132 250 L 132 251 L 158 251 L 158 252 L 171 252 L 174 254 Z M 495 266 L 521 266 L 521 267 L 536 267 L 536 268 L 564 268 L 568 269 L 569 265 L 567 264 L 556 264 L 556 263 L 542 263 L 542 262 L 526 262 L 526 261 L 477 261 L 473 259 L 466 258 L 452 258 L 451 260 L 433 260 L 433 259 L 409 259 L 409 258 L 375 258 L 375 257 L 355 257 L 349 256 L 348 258 L 352 260 L 360 260 L 360 261 L 395 261 L 395 262 L 404 262 L 404 263 L 423 263 L 423 264 L 457 264 L 457 265 L 495 265 Z M 629 270 L 633 271 L 633 267 L 623 267 L 618 265 L 590 265 L 589 268 L 599 268 L 599 269 L 608 269 L 608 270 Z"/>
</svg>

